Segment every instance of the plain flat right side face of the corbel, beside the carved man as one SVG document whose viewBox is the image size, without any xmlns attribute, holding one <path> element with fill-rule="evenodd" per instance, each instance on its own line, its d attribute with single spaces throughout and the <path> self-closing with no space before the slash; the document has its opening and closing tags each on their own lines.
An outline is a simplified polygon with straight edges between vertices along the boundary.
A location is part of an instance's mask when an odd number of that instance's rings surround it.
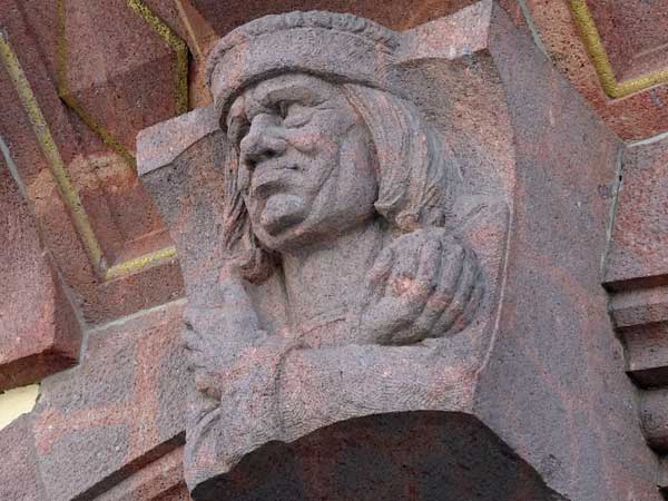
<svg viewBox="0 0 668 501">
<path fill-rule="evenodd" d="M 503 396 L 479 404 L 567 498 L 657 500 L 656 459 L 633 424 L 636 391 L 600 286 L 622 144 L 528 40 L 497 33 L 515 219 L 501 334 L 483 374 L 489 394 Z"/>
</svg>

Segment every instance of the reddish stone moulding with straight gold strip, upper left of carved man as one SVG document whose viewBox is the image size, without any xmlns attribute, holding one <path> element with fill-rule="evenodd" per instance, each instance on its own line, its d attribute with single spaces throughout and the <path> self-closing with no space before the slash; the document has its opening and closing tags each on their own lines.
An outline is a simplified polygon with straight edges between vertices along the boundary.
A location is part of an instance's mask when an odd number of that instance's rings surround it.
<svg viewBox="0 0 668 501">
<path fill-rule="evenodd" d="M 132 264 L 171 244 L 132 166 L 59 98 L 57 7 L 42 0 L 0 4 L 0 131 L 43 228 L 46 248 L 82 317 L 98 324 L 177 298 L 183 282 L 178 264 L 168 257 L 106 275 L 115 265 Z M 70 36 L 75 45 L 85 43 L 86 37 Z M 124 88 L 132 86 L 137 71 L 122 73 L 129 75 Z M 119 108 L 143 108 L 124 96 L 127 102 Z"/>
</svg>

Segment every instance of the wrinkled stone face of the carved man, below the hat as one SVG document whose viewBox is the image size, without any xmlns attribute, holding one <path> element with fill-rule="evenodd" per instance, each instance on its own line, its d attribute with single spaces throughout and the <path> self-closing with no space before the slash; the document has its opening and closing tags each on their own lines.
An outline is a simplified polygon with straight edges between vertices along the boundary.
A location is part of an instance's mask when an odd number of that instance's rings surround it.
<svg viewBox="0 0 668 501">
<path fill-rule="evenodd" d="M 268 248 L 317 244 L 373 216 L 371 139 L 336 86 L 298 73 L 264 80 L 235 100 L 227 127 L 253 232 Z"/>
</svg>

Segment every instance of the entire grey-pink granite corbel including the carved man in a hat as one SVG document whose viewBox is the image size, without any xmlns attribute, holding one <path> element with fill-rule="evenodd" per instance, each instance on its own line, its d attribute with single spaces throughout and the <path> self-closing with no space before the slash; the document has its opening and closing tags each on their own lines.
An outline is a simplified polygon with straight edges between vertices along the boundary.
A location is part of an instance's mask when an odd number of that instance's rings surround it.
<svg viewBox="0 0 668 501">
<path fill-rule="evenodd" d="M 620 144 L 505 12 L 267 17 L 209 69 L 214 105 L 138 148 L 187 287 L 195 500 L 482 471 L 481 499 L 659 499 L 600 287 Z M 471 469 L 430 490 L 413 425 L 489 442 L 434 439 Z"/>
</svg>

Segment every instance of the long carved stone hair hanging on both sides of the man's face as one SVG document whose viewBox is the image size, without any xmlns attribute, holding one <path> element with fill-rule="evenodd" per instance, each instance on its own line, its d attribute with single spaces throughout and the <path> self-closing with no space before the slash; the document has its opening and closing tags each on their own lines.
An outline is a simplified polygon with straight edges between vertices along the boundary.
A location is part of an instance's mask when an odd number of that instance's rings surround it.
<svg viewBox="0 0 668 501">
<path fill-rule="evenodd" d="M 373 139 L 379 167 L 374 207 L 391 232 L 445 226 L 462 176 L 443 137 L 405 99 L 355 84 L 342 88 Z M 237 186 L 238 159 L 238 151 L 230 151 L 226 161 L 223 245 L 246 279 L 262 283 L 272 275 L 277 256 L 253 233 Z"/>
</svg>

